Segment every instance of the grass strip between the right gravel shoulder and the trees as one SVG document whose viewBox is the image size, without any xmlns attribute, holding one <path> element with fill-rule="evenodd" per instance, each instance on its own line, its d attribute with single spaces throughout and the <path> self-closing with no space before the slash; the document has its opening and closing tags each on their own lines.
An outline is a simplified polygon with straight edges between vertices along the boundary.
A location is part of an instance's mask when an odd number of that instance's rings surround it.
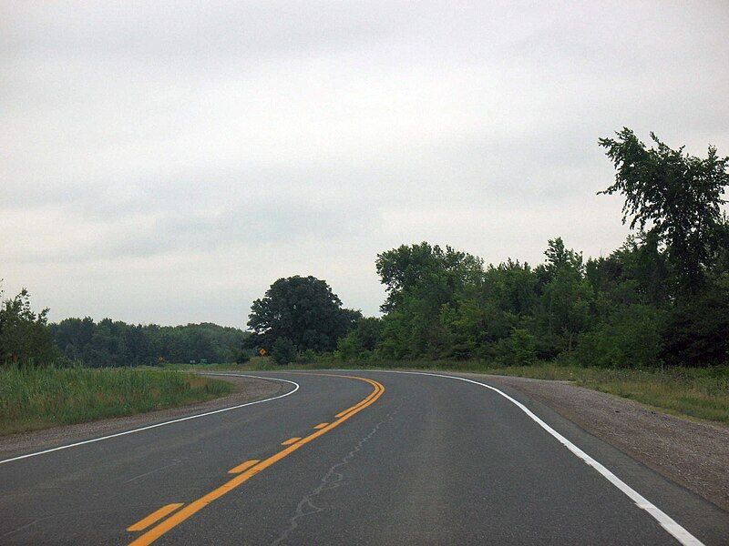
<svg viewBox="0 0 729 546">
<path fill-rule="evenodd" d="M 192 368 L 192 367 L 190 367 Z M 424 369 L 467 371 L 533 379 L 558 379 L 588 389 L 633 399 L 666 413 L 729 424 L 729 366 L 714 368 L 603 369 L 553 363 L 499 368 L 482 361 L 368 361 L 321 359 L 311 364 L 276 366 L 271 359 L 253 358 L 243 365 L 212 364 L 205 369 L 260 371 L 272 369 Z"/>
</svg>

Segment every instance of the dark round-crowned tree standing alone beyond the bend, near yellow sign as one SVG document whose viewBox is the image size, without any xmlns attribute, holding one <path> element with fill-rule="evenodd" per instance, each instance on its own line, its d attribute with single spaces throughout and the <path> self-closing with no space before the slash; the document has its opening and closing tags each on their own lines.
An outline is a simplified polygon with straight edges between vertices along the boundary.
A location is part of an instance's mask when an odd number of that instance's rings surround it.
<svg viewBox="0 0 729 546">
<path fill-rule="evenodd" d="M 331 351 L 360 316 L 342 308 L 342 301 L 323 280 L 279 278 L 253 302 L 248 326 L 254 335 L 249 345 L 271 351 L 276 339 L 287 338 L 300 350 Z"/>
</svg>

